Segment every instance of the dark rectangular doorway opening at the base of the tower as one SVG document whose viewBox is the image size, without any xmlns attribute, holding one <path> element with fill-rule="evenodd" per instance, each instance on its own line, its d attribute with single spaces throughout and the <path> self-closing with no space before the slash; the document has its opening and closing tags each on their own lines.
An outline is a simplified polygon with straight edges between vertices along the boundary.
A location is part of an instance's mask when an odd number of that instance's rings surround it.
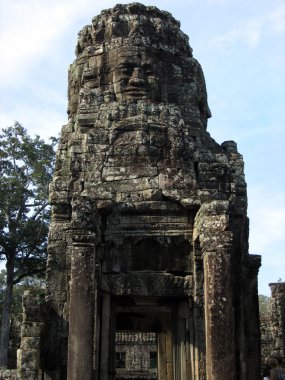
<svg viewBox="0 0 285 380">
<path fill-rule="evenodd" d="M 166 372 L 174 367 L 176 300 L 118 297 L 115 309 L 115 378 L 168 379 Z"/>
</svg>

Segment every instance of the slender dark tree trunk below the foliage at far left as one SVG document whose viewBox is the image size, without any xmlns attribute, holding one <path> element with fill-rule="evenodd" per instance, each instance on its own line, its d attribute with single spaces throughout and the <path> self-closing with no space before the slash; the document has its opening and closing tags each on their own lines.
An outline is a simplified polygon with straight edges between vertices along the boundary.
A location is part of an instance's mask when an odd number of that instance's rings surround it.
<svg viewBox="0 0 285 380">
<path fill-rule="evenodd" d="M 0 368 L 7 368 L 8 363 L 8 347 L 10 336 L 10 319 L 11 319 L 11 305 L 13 296 L 13 275 L 14 275 L 15 260 L 7 260 L 6 269 L 6 291 L 3 303 L 2 312 L 2 326 L 1 326 L 1 340 L 0 340 Z"/>
</svg>

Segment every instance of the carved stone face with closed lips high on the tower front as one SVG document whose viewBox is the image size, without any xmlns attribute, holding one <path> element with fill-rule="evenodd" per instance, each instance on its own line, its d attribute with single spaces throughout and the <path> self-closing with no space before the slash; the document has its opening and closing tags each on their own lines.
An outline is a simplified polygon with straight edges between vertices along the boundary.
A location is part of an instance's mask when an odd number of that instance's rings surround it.
<svg viewBox="0 0 285 380">
<path fill-rule="evenodd" d="M 157 67 L 146 57 L 119 58 L 113 72 L 114 91 L 118 101 L 159 100 Z"/>
</svg>

